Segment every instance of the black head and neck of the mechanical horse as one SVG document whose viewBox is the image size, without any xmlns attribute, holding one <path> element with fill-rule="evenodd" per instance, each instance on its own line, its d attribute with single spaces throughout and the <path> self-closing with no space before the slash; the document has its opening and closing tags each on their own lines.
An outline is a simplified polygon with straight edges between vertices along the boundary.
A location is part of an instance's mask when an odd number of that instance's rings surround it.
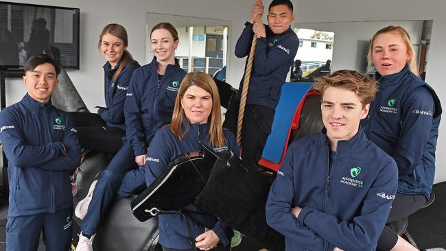
<svg viewBox="0 0 446 251">
<path fill-rule="evenodd" d="M 145 221 L 194 204 L 268 250 L 284 250 L 283 235 L 266 224 L 265 205 L 274 176 L 248 170 L 233 154 L 200 145 L 200 152 L 176 158 L 132 201 L 134 216 Z"/>
</svg>

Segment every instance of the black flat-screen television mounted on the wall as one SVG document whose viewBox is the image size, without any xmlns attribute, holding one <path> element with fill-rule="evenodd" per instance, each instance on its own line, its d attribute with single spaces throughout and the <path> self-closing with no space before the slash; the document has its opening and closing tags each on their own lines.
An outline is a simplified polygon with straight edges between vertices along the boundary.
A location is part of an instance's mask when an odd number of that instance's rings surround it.
<svg viewBox="0 0 446 251">
<path fill-rule="evenodd" d="M 79 9 L 0 1 L 0 69 L 40 53 L 79 69 Z"/>
</svg>

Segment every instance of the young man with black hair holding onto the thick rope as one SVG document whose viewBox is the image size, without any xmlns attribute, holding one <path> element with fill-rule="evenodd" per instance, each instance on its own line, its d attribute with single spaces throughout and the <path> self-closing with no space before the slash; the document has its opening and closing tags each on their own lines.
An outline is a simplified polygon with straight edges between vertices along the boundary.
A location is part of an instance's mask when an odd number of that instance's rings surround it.
<svg viewBox="0 0 446 251">
<path fill-rule="evenodd" d="M 294 56 L 298 38 L 290 28 L 294 21 L 293 5 L 289 0 L 274 0 L 268 8 L 268 25 L 261 22 L 263 4 L 260 0 L 253 6 L 253 15 L 246 22 L 242 35 L 235 45 L 235 56 L 249 55 L 253 36 L 257 36 L 253 69 L 250 76 L 248 96 L 242 126 L 242 160 L 245 165 L 257 168 L 266 138 L 271 132 L 274 110 L 279 103 L 281 87 L 285 83 Z M 249 57 L 246 59 L 248 62 Z M 244 76 L 246 77 L 246 76 Z M 226 111 L 224 128 L 237 131 L 239 102 L 243 82 Z"/>
</svg>

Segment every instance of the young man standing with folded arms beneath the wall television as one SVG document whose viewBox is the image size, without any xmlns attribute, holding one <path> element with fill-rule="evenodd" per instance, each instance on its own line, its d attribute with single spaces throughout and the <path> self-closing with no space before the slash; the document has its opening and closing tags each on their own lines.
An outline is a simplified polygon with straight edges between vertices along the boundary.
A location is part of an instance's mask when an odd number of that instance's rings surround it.
<svg viewBox="0 0 446 251">
<path fill-rule="evenodd" d="M 44 54 L 25 63 L 27 94 L 0 113 L 0 139 L 9 161 L 6 250 L 69 250 L 71 170 L 80 165 L 78 136 L 67 112 L 51 104 L 58 64 Z"/>
</svg>

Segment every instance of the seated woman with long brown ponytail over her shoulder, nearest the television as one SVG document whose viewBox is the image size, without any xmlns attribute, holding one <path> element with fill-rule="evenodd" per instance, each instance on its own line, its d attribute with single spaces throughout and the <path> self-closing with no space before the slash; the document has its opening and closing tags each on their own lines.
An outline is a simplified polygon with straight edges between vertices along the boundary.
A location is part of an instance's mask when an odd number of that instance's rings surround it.
<svg viewBox="0 0 446 251">
<path fill-rule="evenodd" d="M 139 67 L 127 50 L 126 29 L 110 23 L 102 29 L 97 49 L 106 60 L 104 64 L 104 97 L 106 107 L 96 113 L 70 112 L 83 148 L 115 154 L 126 134 L 124 101 L 130 77 Z"/>
</svg>

